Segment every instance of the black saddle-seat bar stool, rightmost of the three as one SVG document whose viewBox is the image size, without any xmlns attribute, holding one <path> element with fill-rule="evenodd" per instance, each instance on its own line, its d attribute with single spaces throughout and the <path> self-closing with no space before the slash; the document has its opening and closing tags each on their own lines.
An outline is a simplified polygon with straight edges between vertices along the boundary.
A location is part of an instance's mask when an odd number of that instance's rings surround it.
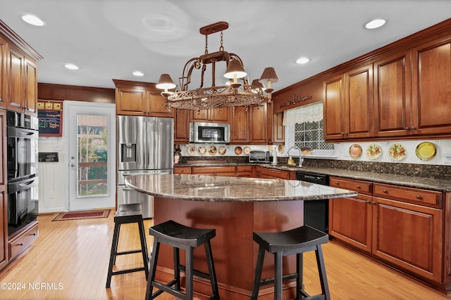
<svg viewBox="0 0 451 300">
<path fill-rule="evenodd" d="M 274 283 L 274 299 L 282 300 L 282 282 L 296 278 L 296 299 L 330 299 L 329 287 L 326 278 L 321 244 L 329 240 L 329 236 L 310 226 L 301 226 L 280 233 L 254 233 L 254 241 L 259 244 L 257 256 L 257 268 L 255 270 L 254 288 L 251 300 L 256 300 L 261 285 Z M 265 251 L 274 254 L 274 278 L 261 280 Z M 318 264 L 319 278 L 322 294 L 310 296 L 304 291 L 302 285 L 302 254 L 315 251 Z M 282 275 L 282 258 L 290 254 L 296 254 L 296 273 Z"/>
</svg>

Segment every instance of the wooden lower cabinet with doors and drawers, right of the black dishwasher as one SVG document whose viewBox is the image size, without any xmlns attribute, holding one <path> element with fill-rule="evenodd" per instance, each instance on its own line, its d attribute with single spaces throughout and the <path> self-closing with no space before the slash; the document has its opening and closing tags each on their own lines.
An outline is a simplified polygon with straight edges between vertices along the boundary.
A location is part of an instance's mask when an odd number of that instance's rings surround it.
<svg viewBox="0 0 451 300">
<path fill-rule="evenodd" d="M 329 200 L 333 238 L 447 289 L 443 266 L 449 268 L 450 261 L 443 257 L 441 192 L 333 176 L 330 185 L 359 192 L 357 197 Z"/>
</svg>

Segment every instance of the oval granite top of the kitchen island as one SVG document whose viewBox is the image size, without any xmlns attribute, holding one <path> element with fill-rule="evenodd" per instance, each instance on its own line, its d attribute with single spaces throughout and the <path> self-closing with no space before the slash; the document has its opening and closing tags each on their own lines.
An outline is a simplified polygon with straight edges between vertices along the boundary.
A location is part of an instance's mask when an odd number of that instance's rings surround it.
<svg viewBox="0 0 451 300">
<path fill-rule="evenodd" d="M 125 184 L 149 195 L 208 202 L 321 200 L 357 195 L 303 181 L 197 174 L 130 175 L 125 177 Z"/>
</svg>

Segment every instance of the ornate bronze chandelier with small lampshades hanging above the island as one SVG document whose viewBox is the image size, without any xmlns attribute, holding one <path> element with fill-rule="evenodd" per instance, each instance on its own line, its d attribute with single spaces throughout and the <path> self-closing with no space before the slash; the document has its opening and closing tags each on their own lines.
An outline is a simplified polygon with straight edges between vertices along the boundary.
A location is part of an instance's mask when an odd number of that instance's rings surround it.
<svg viewBox="0 0 451 300">
<path fill-rule="evenodd" d="M 205 53 L 198 58 L 191 58 L 183 67 L 182 77 L 179 78 L 180 89 L 169 74 L 161 74 L 157 89 L 162 89 L 161 95 L 166 99 L 166 106 L 185 110 L 206 110 L 219 107 L 261 105 L 264 101 L 271 101 L 271 83 L 279 81 L 273 67 L 266 67 L 260 79 L 249 82 L 242 60 L 234 53 L 224 51 L 223 30 L 228 29 L 227 22 L 216 22 L 200 28 L 199 32 L 205 35 Z M 219 51 L 209 53 L 208 36 L 221 32 L 221 46 Z M 216 86 L 216 63 L 225 62 L 224 77 L 229 84 Z M 211 86 L 204 87 L 207 66 L 211 65 Z M 200 72 L 200 86 L 190 89 L 192 73 Z M 266 87 L 265 87 L 266 85 Z"/>
</svg>

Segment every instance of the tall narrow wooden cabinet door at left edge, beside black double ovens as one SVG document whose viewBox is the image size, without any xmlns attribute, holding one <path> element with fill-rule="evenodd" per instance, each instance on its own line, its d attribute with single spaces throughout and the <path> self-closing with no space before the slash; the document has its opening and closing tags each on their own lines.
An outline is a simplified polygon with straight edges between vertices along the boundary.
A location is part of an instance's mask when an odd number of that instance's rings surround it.
<svg viewBox="0 0 451 300">
<path fill-rule="evenodd" d="M 8 207 L 6 205 L 6 112 L 0 110 L 0 270 L 8 263 Z"/>
</svg>

